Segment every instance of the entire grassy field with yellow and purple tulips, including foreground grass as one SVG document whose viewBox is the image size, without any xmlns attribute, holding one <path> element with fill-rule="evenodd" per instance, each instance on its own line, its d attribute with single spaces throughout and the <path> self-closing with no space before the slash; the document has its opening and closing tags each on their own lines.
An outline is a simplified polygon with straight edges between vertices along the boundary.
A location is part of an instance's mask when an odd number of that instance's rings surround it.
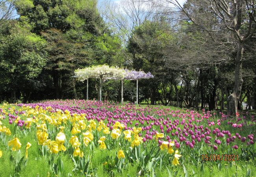
<svg viewBox="0 0 256 177">
<path fill-rule="evenodd" d="M 246 112 L 50 100 L 1 104 L 0 121 L 2 177 L 256 176 Z"/>
</svg>

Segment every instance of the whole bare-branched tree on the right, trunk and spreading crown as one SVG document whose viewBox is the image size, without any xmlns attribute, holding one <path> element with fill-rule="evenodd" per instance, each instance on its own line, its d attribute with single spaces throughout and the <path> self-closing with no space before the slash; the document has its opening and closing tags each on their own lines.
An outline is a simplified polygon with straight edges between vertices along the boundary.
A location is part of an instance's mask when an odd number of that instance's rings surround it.
<svg viewBox="0 0 256 177">
<path fill-rule="evenodd" d="M 228 112 L 234 116 L 237 112 L 237 104 L 240 98 L 243 78 L 242 61 L 245 43 L 251 39 L 256 30 L 255 1 L 249 0 L 188 0 L 184 7 L 178 0 L 166 0 L 175 8 L 173 12 L 180 11 L 181 17 L 189 19 L 195 25 L 196 30 L 213 33 L 227 32 L 228 41 L 220 41 L 222 44 L 230 44 L 236 49 L 234 56 L 234 87 L 228 96 Z M 202 11 L 202 9 L 204 9 Z M 214 18 L 206 18 L 213 16 Z M 211 25 L 209 26 L 209 23 Z M 217 40 L 217 38 L 212 38 Z"/>
</svg>

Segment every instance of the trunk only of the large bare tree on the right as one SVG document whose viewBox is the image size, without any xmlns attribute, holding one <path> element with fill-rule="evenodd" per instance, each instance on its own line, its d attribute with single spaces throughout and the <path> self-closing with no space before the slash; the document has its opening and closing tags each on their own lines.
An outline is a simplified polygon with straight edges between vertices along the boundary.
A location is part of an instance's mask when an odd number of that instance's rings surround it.
<svg viewBox="0 0 256 177">
<path fill-rule="evenodd" d="M 235 60 L 235 83 L 233 92 L 228 96 L 227 105 L 228 105 L 228 114 L 230 116 L 235 116 L 238 105 L 238 100 L 240 98 L 243 78 L 242 78 L 242 59 L 243 59 L 243 45 L 241 43 L 237 46 L 236 60 Z"/>
</svg>

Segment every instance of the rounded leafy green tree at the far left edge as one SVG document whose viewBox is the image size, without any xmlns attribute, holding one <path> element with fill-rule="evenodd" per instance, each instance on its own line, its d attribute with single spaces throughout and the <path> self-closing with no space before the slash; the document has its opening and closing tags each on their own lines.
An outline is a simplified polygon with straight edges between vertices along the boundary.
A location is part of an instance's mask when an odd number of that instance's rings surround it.
<svg viewBox="0 0 256 177">
<path fill-rule="evenodd" d="M 33 89 L 38 89 L 37 77 L 46 65 L 46 41 L 30 32 L 30 26 L 12 24 L 9 35 L 0 41 L 0 84 L 6 92 L 11 92 L 12 102 L 17 91 L 28 99 Z"/>
</svg>

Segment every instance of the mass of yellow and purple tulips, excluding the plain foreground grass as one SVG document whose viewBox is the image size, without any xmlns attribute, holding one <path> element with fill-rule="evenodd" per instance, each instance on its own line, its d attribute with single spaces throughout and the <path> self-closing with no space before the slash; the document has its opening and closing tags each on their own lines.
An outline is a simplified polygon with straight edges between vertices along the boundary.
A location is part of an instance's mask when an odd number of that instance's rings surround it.
<svg viewBox="0 0 256 177">
<path fill-rule="evenodd" d="M 62 155 L 72 158 L 73 171 L 91 175 L 97 173 L 91 157 L 98 149 L 102 154 L 113 152 L 102 161 L 109 174 L 123 173 L 130 163 L 138 168 L 139 175 L 149 175 L 156 169 L 179 168 L 188 155 L 198 159 L 191 163 L 200 162 L 200 154 L 220 151 L 232 151 L 247 159 L 247 152 L 255 147 L 255 125 L 254 116 L 228 118 L 221 112 L 217 116 L 204 110 L 199 113 L 101 101 L 4 104 L 0 106 L 0 142 L 5 146 L 0 146 L 0 157 L 8 158 L 6 149 L 20 153 L 26 143 L 25 160 L 30 157 L 28 148 L 38 146 L 56 175 L 63 175 L 65 170 Z M 13 127 L 16 132 L 11 131 Z M 35 136 L 36 141 L 26 142 L 28 136 Z"/>
</svg>

